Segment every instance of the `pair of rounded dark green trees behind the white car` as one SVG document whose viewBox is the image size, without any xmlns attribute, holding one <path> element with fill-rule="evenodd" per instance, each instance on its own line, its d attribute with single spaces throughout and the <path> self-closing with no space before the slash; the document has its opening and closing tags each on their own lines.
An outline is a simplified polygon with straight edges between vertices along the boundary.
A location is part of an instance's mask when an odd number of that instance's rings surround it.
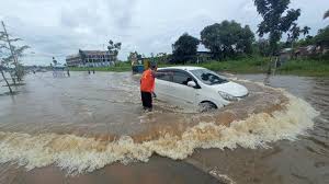
<svg viewBox="0 0 329 184">
<path fill-rule="evenodd" d="M 186 62 L 195 59 L 197 46 L 209 49 L 213 59 L 226 59 L 240 54 L 252 54 L 254 34 L 248 25 L 235 21 L 223 21 L 203 28 L 201 39 L 184 33 L 173 44 L 172 62 Z"/>
</svg>

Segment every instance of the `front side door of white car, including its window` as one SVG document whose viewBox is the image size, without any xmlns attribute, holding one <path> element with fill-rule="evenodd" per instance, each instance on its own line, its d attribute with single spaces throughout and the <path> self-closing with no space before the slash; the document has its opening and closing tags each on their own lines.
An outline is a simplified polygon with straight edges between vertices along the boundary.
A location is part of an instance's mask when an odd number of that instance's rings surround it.
<svg viewBox="0 0 329 184">
<path fill-rule="evenodd" d="M 183 107 L 194 107 L 195 106 L 195 88 L 188 87 L 189 81 L 195 81 L 194 78 L 183 70 L 174 70 L 171 83 L 171 97 L 178 105 Z"/>
</svg>

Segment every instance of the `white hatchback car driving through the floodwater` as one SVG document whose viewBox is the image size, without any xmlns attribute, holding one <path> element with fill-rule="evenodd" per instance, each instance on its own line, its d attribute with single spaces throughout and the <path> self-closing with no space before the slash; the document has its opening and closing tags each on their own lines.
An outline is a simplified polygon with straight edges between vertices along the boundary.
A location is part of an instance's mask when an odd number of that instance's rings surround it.
<svg viewBox="0 0 329 184">
<path fill-rule="evenodd" d="M 159 68 L 157 99 L 182 107 L 220 108 L 248 95 L 246 87 L 202 67 Z M 169 74 L 170 73 L 170 74 Z"/>
</svg>

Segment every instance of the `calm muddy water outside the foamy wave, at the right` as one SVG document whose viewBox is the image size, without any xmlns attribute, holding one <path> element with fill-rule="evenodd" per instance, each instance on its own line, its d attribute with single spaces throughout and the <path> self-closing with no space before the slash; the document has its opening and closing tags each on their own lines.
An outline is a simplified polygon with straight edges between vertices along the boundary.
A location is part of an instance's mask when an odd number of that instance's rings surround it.
<svg viewBox="0 0 329 184">
<path fill-rule="evenodd" d="M 263 81 L 262 74 L 239 78 Z M 270 85 L 305 99 L 320 115 L 314 129 L 295 141 L 281 140 L 269 149 L 198 150 L 191 163 L 228 175 L 236 183 L 329 183 L 329 79 L 276 76 Z"/>
</svg>

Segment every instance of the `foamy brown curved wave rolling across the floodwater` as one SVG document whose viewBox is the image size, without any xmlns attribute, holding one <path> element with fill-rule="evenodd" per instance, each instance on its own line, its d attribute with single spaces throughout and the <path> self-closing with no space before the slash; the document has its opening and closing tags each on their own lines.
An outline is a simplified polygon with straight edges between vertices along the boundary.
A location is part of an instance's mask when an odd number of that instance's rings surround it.
<svg viewBox="0 0 329 184">
<path fill-rule="evenodd" d="M 196 148 L 257 149 L 282 139 L 295 140 L 313 128 L 313 118 L 318 113 L 304 100 L 282 92 L 288 102 L 285 108 L 274 113 L 251 114 L 228 127 L 200 123 L 181 136 L 167 134 L 144 142 L 135 142 L 129 136 L 110 141 L 75 135 L 0 131 L 0 163 L 18 163 L 27 170 L 56 164 L 69 174 L 78 174 L 117 161 L 147 162 L 152 153 L 178 160 L 189 157 Z"/>
</svg>

